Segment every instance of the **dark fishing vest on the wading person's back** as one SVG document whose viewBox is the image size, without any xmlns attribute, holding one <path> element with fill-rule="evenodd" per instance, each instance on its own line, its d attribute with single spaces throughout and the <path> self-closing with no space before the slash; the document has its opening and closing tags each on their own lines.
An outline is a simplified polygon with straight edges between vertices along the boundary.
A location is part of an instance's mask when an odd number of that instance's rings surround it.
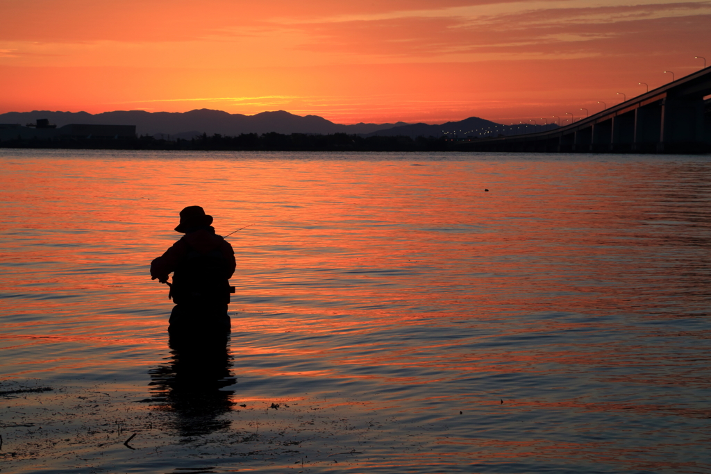
<svg viewBox="0 0 711 474">
<path fill-rule="evenodd" d="M 184 243 L 187 251 L 173 271 L 168 297 L 181 305 L 229 304 L 232 289 L 227 278 L 228 262 L 223 253 L 217 248 L 201 254 L 188 242 Z"/>
</svg>

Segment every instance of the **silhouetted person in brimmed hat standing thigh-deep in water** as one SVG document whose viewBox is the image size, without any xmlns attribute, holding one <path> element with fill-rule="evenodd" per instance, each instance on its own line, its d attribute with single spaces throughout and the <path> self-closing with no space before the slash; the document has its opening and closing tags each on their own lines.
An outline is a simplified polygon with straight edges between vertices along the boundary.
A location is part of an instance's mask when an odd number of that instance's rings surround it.
<svg viewBox="0 0 711 474">
<path fill-rule="evenodd" d="M 229 333 L 230 278 L 235 272 L 235 252 L 211 226 L 213 216 L 200 206 L 180 212 L 176 232 L 185 234 L 151 262 L 151 279 L 171 287 L 173 298 L 169 333 Z M 173 272 L 173 283 L 168 282 Z"/>
</svg>

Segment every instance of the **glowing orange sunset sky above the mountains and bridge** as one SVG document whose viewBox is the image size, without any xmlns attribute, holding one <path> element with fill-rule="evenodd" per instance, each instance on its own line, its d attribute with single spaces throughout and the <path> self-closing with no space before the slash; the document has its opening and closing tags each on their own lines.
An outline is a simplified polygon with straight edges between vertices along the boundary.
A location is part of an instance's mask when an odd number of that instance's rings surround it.
<svg viewBox="0 0 711 474">
<path fill-rule="evenodd" d="M 0 113 L 597 112 L 711 65 L 711 1 L 0 0 Z"/>
</svg>

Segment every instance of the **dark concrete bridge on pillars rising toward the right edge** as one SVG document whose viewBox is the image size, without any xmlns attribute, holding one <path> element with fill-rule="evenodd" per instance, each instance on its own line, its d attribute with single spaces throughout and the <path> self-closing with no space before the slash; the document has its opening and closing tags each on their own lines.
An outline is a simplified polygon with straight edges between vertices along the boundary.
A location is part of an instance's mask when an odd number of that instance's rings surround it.
<svg viewBox="0 0 711 474">
<path fill-rule="evenodd" d="M 710 153 L 711 66 L 579 122 L 535 134 L 461 141 L 461 151 Z"/>
</svg>

